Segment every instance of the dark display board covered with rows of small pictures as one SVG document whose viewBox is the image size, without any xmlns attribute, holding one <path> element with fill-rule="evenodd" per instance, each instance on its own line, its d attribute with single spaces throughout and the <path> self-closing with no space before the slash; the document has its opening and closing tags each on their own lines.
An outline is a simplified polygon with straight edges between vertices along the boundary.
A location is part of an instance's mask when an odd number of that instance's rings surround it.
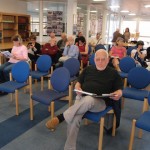
<svg viewBox="0 0 150 150">
<path fill-rule="evenodd" d="M 47 15 L 47 34 L 54 32 L 60 36 L 63 32 L 63 12 L 49 11 Z"/>
</svg>

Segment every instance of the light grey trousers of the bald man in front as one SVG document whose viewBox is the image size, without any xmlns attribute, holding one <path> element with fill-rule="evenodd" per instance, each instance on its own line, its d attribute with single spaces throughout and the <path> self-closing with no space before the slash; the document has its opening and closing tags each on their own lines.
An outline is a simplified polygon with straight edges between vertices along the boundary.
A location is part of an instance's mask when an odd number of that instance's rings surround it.
<svg viewBox="0 0 150 150">
<path fill-rule="evenodd" d="M 103 99 L 91 96 L 76 97 L 75 104 L 63 113 L 68 124 L 64 150 L 76 150 L 76 141 L 83 115 L 87 111 L 99 112 L 105 108 L 106 105 Z"/>
</svg>

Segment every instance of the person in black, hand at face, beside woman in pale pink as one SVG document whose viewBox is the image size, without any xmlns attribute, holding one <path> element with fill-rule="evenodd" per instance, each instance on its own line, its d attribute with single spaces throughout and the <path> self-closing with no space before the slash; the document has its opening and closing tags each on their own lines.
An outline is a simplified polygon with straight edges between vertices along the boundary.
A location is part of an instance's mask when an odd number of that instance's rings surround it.
<svg viewBox="0 0 150 150">
<path fill-rule="evenodd" d="M 27 44 L 27 48 L 29 59 L 33 62 L 36 62 L 36 60 L 39 57 L 39 54 L 41 54 L 41 45 L 36 42 L 35 35 L 30 36 L 30 42 Z"/>
</svg>

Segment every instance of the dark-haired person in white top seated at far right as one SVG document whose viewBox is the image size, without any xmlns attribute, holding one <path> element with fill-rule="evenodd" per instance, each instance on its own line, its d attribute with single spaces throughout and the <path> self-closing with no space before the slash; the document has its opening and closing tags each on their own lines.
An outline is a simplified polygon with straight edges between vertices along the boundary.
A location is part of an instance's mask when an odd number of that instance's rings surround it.
<svg viewBox="0 0 150 150">
<path fill-rule="evenodd" d="M 135 60 L 137 66 L 147 67 L 146 62 L 144 61 L 147 51 L 143 49 L 144 42 L 137 42 L 137 49 L 131 51 L 131 57 Z"/>
</svg>

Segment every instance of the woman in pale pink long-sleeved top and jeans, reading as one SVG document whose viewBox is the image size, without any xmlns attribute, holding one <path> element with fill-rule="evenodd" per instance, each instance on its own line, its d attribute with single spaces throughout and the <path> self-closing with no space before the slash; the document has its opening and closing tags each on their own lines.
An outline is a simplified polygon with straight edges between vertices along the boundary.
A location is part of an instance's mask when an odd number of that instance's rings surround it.
<svg viewBox="0 0 150 150">
<path fill-rule="evenodd" d="M 20 35 L 13 36 L 12 41 L 13 48 L 11 50 L 10 58 L 8 62 L 0 66 L 0 83 L 9 81 L 9 73 L 15 63 L 28 60 L 28 50 L 26 46 L 22 45 Z"/>
</svg>

